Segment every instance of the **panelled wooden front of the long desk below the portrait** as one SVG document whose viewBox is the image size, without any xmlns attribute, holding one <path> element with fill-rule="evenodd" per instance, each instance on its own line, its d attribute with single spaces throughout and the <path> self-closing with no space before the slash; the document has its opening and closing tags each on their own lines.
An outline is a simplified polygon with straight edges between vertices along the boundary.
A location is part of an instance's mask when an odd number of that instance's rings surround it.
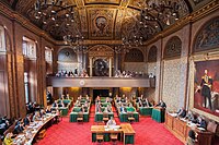
<svg viewBox="0 0 219 145">
<path fill-rule="evenodd" d="M 165 113 L 165 128 L 173 133 L 181 142 L 186 143 L 191 126 L 187 121 L 172 117 Z M 197 128 L 195 132 L 198 134 L 198 145 L 211 145 L 212 133 L 208 131 L 199 131 Z"/>
</svg>

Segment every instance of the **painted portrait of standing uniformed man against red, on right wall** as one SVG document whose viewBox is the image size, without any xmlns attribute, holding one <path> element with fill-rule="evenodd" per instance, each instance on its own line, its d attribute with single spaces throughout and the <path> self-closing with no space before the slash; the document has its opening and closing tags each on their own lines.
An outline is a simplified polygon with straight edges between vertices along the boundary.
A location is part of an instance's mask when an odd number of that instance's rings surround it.
<svg viewBox="0 0 219 145">
<path fill-rule="evenodd" d="M 195 62 L 194 108 L 219 117 L 219 60 Z"/>
</svg>

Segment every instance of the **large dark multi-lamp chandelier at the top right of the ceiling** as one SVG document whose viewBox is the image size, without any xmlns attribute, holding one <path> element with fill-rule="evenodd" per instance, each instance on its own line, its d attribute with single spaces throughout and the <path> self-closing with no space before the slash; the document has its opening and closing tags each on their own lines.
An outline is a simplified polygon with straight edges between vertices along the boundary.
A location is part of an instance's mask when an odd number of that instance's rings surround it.
<svg viewBox="0 0 219 145">
<path fill-rule="evenodd" d="M 178 4 L 176 2 L 171 2 L 170 0 L 151 0 L 142 5 L 140 13 L 140 24 L 147 27 L 147 22 L 164 22 L 165 25 L 171 25 L 171 21 L 177 21 L 178 15 Z M 155 25 L 158 27 L 158 25 Z"/>
</svg>

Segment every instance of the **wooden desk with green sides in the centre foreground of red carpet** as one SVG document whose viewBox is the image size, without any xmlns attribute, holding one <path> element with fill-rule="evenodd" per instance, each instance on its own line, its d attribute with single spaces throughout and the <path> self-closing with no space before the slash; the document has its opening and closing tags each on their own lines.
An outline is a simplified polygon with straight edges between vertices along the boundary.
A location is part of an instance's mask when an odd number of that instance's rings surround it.
<svg viewBox="0 0 219 145">
<path fill-rule="evenodd" d="M 124 140 L 125 144 L 135 144 L 135 134 L 132 126 L 129 123 L 120 124 L 120 129 L 118 130 L 105 130 L 104 125 L 92 125 L 91 126 L 92 133 L 92 142 L 96 142 L 96 134 L 103 133 L 104 134 L 104 142 L 110 142 L 110 134 L 111 133 L 118 133 L 118 140 Z"/>
</svg>

